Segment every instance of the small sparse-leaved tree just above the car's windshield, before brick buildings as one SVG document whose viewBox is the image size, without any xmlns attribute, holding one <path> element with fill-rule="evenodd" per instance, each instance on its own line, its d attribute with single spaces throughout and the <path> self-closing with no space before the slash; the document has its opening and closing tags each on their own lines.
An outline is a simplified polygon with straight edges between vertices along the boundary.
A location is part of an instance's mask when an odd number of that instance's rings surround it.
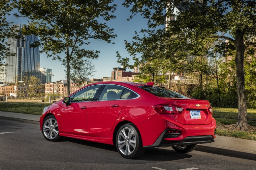
<svg viewBox="0 0 256 170">
<path fill-rule="evenodd" d="M 93 76 L 95 70 L 92 61 L 89 59 L 79 59 L 71 63 L 70 79 L 79 87 L 86 86 L 89 78 Z"/>
</svg>

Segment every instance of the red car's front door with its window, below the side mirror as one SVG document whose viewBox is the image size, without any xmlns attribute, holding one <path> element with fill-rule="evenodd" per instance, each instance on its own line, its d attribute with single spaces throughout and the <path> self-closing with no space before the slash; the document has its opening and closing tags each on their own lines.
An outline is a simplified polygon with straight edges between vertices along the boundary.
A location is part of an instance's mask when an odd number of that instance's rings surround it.
<svg viewBox="0 0 256 170">
<path fill-rule="evenodd" d="M 69 105 L 63 105 L 60 112 L 61 133 L 86 136 L 87 111 L 93 103 L 94 96 L 97 95 L 100 86 L 89 86 L 76 92 Z"/>
</svg>

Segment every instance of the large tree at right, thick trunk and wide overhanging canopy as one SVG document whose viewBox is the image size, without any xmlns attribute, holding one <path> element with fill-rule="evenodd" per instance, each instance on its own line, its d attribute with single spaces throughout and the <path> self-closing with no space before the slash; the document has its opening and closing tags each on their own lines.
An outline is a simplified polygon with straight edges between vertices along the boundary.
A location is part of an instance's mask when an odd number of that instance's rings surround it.
<svg viewBox="0 0 256 170">
<path fill-rule="evenodd" d="M 165 33 L 157 35 L 163 46 L 172 44 L 173 54 L 198 45 L 205 38 L 221 38 L 235 47 L 238 122 L 236 129 L 246 130 L 247 107 L 245 95 L 244 53 L 246 46 L 255 45 L 256 2 L 253 0 L 126 0 L 133 14 L 140 13 L 149 20 L 148 27 L 167 25 Z M 184 10 L 173 16 L 175 6 Z M 131 15 L 132 18 L 133 15 Z M 166 19 L 175 17 L 174 20 Z M 164 29 L 164 28 L 163 28 Z M 162 29 L 162 30 L 163 30 Z M 224 35 L 223 35 L 224 34 Z"/>
</svg>

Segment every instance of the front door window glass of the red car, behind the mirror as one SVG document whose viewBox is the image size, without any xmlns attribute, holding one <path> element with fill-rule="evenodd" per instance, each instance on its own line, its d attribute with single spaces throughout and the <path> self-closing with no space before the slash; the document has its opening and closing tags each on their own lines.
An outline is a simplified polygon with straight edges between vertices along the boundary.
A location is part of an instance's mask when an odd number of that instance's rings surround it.
<svg viewBox="0 0 256 170">
<path fill-rule="evenodd" d="M 72 102 L 92 101 L 100 85 L 90 86 L 75 93 Z"/>
</svg>

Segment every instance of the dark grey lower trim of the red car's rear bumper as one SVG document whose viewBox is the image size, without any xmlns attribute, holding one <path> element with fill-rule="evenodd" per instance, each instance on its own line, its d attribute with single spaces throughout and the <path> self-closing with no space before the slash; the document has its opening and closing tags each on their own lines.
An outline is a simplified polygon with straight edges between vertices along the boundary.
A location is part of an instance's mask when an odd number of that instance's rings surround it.
<svg viewBox="0 0 256 170">
<path fill-rule="evenodd" d="M 154 144 L 143 146 L 143 147 L 160 147 L 160 146 L 174 146 L 174 145 L 187 145 L 187 144 L 198 144 L 198 143 L 211 143 L 214 142 L 214 137 L 212 135 L 203 136 L 188 136 L 183 140 L 165 140 L 166 132 L 171 129 L 166 129 L 155 141 Z"/>
</svg>

